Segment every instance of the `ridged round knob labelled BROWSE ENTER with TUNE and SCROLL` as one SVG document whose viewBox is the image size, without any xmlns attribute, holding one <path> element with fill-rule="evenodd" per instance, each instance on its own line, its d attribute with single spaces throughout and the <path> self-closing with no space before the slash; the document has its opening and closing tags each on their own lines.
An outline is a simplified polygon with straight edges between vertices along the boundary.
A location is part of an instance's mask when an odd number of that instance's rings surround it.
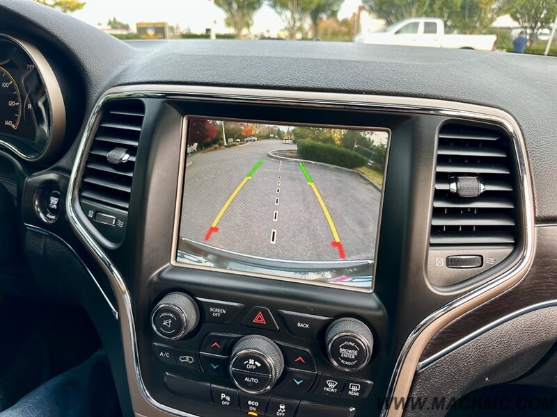
<svg viewBox="0 0 557 417">
<path fill-rule="evenodd" d="M 368 326 L 355 318 L 332 322 L 325 335 L 329 361 L 338 369 L 355 371 L 371 359 L 373 336 Z"/>
</svg>

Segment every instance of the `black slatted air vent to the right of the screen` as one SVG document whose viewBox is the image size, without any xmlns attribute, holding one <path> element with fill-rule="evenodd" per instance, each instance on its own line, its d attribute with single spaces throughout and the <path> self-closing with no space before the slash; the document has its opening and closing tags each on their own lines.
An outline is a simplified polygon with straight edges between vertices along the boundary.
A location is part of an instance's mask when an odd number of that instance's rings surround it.
<svg viewBox="0 0 557 417">
<path fill-rule="evenodd" d="M 517 204 L 510 138 L 491 126 L 439 132 L 431 245 L 515 243 Z"/>
</svg>

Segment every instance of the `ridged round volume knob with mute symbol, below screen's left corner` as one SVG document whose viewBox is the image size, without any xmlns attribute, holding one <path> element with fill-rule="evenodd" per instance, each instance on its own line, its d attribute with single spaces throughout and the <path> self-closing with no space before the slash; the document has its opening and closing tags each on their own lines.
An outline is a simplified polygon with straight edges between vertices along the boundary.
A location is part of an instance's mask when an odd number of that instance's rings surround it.
<svg viewBox="0 0 557 417">
<path fill-rule="evenodd" d="M 199 309 L 189 295 L 170 293 L 163 297 L 151 314 L 151 325 L 161 337 L 175 341 L 195 329 Z"/>
</svg>

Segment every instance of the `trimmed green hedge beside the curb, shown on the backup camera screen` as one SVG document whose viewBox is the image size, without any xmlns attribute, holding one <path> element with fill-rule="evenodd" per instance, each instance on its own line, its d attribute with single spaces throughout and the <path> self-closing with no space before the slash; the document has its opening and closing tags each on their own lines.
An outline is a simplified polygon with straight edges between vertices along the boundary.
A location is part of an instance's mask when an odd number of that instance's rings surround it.
<svg viewBox="0 0 557 417">
<path fill-rule="evenodd" d="M 329 163 L 345 168 L 366 165 L 366 158 L 350 149 L 314 142 L 313 140 L 298 140 L 297 145 L 299 156 L 308 161 Z"/>
</svg>

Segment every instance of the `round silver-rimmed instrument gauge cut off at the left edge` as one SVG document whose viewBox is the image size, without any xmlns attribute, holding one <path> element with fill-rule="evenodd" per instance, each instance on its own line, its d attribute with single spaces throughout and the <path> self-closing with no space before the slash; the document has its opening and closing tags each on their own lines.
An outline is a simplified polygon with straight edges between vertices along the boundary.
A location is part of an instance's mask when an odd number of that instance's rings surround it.
<svg viewBox="0 0 557 417">
<path fill-rule="evenodd" d="M 29 42 L 0 34 L 0 147 L 47 161 L 64 131 L 62 93 L 47 60 Z"/>
</svg>

